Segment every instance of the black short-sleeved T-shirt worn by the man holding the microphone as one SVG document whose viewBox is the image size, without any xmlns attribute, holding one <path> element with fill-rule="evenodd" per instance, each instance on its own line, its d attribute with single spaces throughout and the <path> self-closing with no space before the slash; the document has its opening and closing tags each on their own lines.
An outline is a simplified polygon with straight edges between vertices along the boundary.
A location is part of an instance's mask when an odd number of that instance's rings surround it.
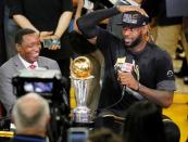
<svg viewBox="0 0 188 142">
<path fill-rule="evenodd" d="M 105 30 L 99 30 L 97 47 L 104 56 L 104 78 L 99 101 L 99 109 L 106 108 L 122 98 L 122 86 L 117 81 L 114 65 L 117 57 L 126 56 L 126 61 L 135 61 L 139 70 L 139 82 L 151 89 L 174 91 L 173 64 L 170 55 L 155 44 L 147 43 L 141 52 L 128 51 L 124 41 Z M 125 62 L 126 62 L 125 61 Z M 122 101 L 112 106 L 113 109 L 126 111 L 135 101 L 142 98 L 126 91 Z"/>
</svg>

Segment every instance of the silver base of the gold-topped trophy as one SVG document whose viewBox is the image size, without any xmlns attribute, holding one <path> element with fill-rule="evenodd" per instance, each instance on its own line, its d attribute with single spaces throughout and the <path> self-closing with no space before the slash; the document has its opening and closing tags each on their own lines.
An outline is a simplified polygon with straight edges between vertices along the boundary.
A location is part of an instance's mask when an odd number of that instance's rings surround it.
<svg viewBox="0 0 188 142">
<path fill-rule="evenodd" d="M 73 109 L 73 121 L 77 124 L 91 122 L 91 112 L 87 106 L 78 106 Z"/>
</svg>

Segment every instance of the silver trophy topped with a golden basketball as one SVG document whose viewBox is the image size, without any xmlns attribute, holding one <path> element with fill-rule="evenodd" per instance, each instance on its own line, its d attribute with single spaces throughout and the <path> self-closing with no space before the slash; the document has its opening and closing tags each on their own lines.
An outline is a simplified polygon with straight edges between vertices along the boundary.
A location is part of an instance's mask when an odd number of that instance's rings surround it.
<svg viewBox="0 0 188 142">
<path fill-rule="evenodd" d="M 76 108 L 73 109 L 73 122 L 90 124 L 91 112 L 87 107 L 87 96 L 93 76 L 91 73 L 91 63 L 85 56 L 76 57 L 71 65 L 71 79 L 75 90 Z"/>
</svg>

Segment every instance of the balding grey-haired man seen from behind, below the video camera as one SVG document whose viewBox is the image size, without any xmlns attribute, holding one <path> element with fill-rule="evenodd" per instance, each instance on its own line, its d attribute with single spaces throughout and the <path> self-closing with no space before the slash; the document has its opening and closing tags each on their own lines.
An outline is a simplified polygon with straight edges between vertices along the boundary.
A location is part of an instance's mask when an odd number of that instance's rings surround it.
<svg viewBox="0 0 188 142">
<path fill-rule="evenodd" d="M 12 118 L 16 131 L 11 142 L 46 142 L 50 109 L 43 98 L 36 93 L 21 96 L 13 107 Z"/>
</svg>

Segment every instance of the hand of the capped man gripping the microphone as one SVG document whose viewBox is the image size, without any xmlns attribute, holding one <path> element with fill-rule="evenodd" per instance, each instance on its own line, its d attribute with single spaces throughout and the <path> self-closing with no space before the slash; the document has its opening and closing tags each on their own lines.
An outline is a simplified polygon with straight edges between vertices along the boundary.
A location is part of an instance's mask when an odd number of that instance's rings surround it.
<svg viewBox="0 0 188 142">
<path fill-rule="evenodd" d="M 131 73 L 121 72 L 118 70 L 117 80 L 123 86 L 127 86 L 130 89 L 139 90 L 139 82 L 134 78 Z"/>
</svg>

